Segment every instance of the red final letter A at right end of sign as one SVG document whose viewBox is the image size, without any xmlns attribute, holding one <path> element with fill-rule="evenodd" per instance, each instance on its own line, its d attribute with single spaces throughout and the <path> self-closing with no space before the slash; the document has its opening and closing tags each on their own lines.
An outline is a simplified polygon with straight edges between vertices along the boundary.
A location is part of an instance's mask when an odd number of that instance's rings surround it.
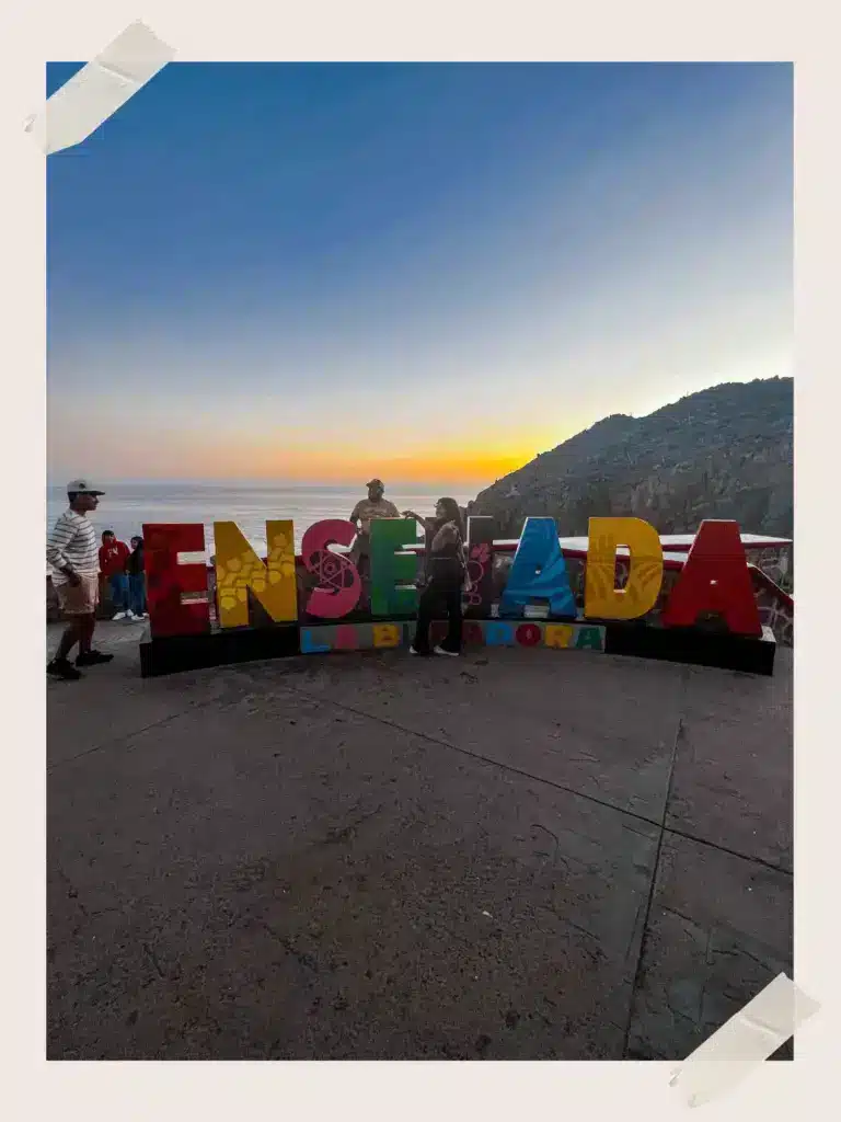
<svg viewBox="0 0 841 1122">
<path fill-rule="evenodd" d="M 745 546 L 736 522 L 705 521 L 663 610 L 665 627 L 691 627 L 701 613 L 723 616 L 737 635 L 761 635 Z"/>
</svg>

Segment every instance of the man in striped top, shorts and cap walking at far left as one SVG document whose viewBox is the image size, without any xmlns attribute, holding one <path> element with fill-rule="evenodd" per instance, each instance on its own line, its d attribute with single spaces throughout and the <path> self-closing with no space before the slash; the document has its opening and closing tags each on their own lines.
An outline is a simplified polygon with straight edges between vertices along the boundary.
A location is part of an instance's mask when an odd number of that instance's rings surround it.
<svg viewBox="0 0 841 1122">
<path fill-rule="evenodd" d="M 58 595 L 62 614 L 68 626 L 47 673 L 65 681 L 81 678 L 76 666 L 95 666 L 110 662 L 112 654 L 102 654 L 91 646 L 96 626 L 99 603 L 99 546 L 93 524 L 87 514 L 99 506 L 100 495 L 90 481 L 74 479 L 67 484 L 68 507 L 56 521 L 47 542 L 47 561 L 52 568 L 53 587 Z M 78 643 L 76 666 L 67 655 Z"/>
</svg>

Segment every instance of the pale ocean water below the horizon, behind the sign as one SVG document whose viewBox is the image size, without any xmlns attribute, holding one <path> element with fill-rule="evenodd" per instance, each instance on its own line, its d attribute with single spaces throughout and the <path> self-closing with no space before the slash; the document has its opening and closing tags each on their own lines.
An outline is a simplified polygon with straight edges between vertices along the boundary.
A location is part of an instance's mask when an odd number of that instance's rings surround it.
<svg viewBox="0 0 841 1122">
<path fill-rule="evenodd" d="M 271 518 L 293 518 L 295 548 L 301 552 L 304 532 L 322 518 L 346 518 L 355 504 L 366 498 L 364 487 L 309 487 L 274 484 L 211 484 L 211 482 L 123 482 L 109 485 L 101 481 L 105 495 L 99 509 L 91 516 L 99 537 L 103 531 L 113 530 L 128 543 L 142 534 L 144 523 L 201 522 L 204 525 L 205 557 L 213 554 L 213 523 L 235 522 L 251 546 L 260 557 L 266 551 L 266 522 Z M 398 511 L 410 507 L 422 515 L 431 515 L 442 494 L 451 495 L 461 506 L 475 498 L 477 491 L 466 494 L 456 489 L 431 491 L 428 488 L 400 488 L 386 490 Z M 47 488 L 47 530 L 67 506 L 64 487 Z"/>
</svg>

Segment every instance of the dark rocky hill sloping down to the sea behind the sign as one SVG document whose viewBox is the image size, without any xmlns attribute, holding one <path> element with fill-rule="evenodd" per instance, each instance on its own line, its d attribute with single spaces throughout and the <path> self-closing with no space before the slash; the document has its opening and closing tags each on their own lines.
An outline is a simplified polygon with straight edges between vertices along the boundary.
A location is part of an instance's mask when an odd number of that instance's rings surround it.
<svg viewBox="0 0 841 1122">
<path fill-rule="evenodd" d="M 588 519 L 636 515 L 662 534 L 736 518 L 755 534 L 793 535 L 793 379 L 727 383 L 645 417 L 606 417 L 483 490 L 469 514 L 492 514 L 501 536 L 528 515 L 562 536 Z"/>
</svg>

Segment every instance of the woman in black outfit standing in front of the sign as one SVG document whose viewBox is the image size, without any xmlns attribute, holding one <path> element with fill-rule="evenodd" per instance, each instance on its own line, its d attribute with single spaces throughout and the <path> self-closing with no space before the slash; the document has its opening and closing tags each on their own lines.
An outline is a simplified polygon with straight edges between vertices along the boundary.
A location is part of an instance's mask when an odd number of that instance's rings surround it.
<svg viewBox="0 0 841 1122">
<path fill-rule="evenodd" d="M 464 534 L 459 504 L 453 498 L 438 499 L 434 518 L 422 518 L 414 511 L 405 511 L 405 518 L 414 518 L 426 531 L 426 553 L 423 588 L 417 605 L 417 628 L 409 654 L 429 654 L 429 624 L 436 614 L 446 610 L 450 627 L 444 642 L 435 654 L 455 657 L 461 654 L 461 594 L 466 573 Z"/>
</svg>

